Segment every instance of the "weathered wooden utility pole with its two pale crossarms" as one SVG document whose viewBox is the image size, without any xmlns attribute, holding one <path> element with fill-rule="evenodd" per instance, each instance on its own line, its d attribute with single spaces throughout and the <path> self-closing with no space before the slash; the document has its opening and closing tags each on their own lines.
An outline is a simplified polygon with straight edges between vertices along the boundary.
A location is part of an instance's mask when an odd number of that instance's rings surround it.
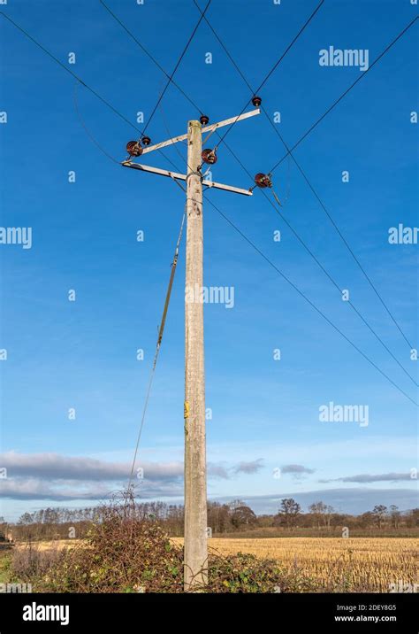
<svg viewBox="0 0 419 634">
<path fill-rule="evenodd" d="M 187 141 L 187 174 L 170 172 L 134 163 L 132 157 L 122 162 L 125 167 L 167 176 L 187 182 L 187 262 L 185 288 L 185 590 L 198 591 L 207 581 L 207 467 L 205 442 L 205 370 L 203 351 L 203 223 L 202 185 L 252 196 L 249 189 L 240 189 L 205 180 L 202 175 L 202 134 L 206 139 L 223 126 L 260 114 L 259 108 L 244 112 L 202 128 L 200 121 L 189 121 L 187 135 L 148 145 L 141 155 L 180 141 Z M 207 119 L 208 120 L 208 119 Z M 131 142 L 135 143 L 135 142 Z"/>
</svg>

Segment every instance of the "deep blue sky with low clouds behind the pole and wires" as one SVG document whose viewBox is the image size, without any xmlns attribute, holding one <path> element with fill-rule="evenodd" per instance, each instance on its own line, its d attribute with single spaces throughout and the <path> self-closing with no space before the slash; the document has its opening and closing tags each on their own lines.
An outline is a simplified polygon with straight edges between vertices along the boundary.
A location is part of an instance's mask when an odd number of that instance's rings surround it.
<svg viewBox="0 0 419 634">
<path fill-rule="evenodd" d="M 201 2 L 202 7 L 204 3 Z M 109 6 L 168 73 L 199 19 L 191 0 L 109 0 Z M 314 11 L 213 0 L 208 19 L 252 86 Z M 135 124 L 147 120 L 164 75 L 99 2 L 15 0 L 2 7 L 63 64 Z M 417 15 L 408 0 L 326 2 L 261 90 L 263 106 L 293 145 L 357 79 L 357 67 L 319 66 L 319 50 L 368 49 L 369 62 Z M 2 227 L 31 227 L 33 244 L 0 244 L 3 510 L 103 499 L 124 482 L 133 458 L 149 368 L 184 196 L 171 182 L 115 165 L 90 141 L 74 107 L 76 81 L 6 19 L 0 19 Z M 389 244 L 388 231 L 417 227 L 417 22 L 299 145 L 294 156 L 417 346 L 417 244 Z M 68 65 L 70 52 L 76 64 Z M 212 64 L 205 63 L 212 53 Z M 202 22 L 175 81 L 211 122 L 238 114 L 251 97 Z M 135 131 L 78 88 L 91 134 L 118 160 Z M 250 108 L 251 106 L 249 106 Z M 148 134 L 187 131 L 199 113 L 171 86 Z M 166 123 L 164 123 L 164 119 Z M 141 126 L 140 126 L 141 127 Z M 237 124 L 227 143 L 250 174 L 268 172 L 284 147 L 263 115 Z M 186 157 L 186 148 L 179 144 Z M 178 153 L 167 156 L 182 167 Z M 152 152 L 144 163 L 169 168 Z M 180 164 L 180 165 L 179 165 Z M 68 182 L 73 170 L 76 182 Z M 342 182 L 342 172 L 349 182 Z M 221 145 L 213 178 L 253 183 Z M 282 213 L 417 381 L 410 347 L 292 161 L 274 173 Z M 342 301 L 326 275 L 260 191 L 210 200 L 354 344 L 417 402 L 415 384 Z M 274 242 L 275 230 L 281 241 Z M 138 230 L 144 242 L 136 241 Z M 204 209 L 205 284 L 234 288 L 234 306 L 205 305 L 209 497 L 248 499 L 258 512 L 293 495 L 361 512 L 375 504 L 417 505 L 417 407 L 362 359 L 209 205 Z M 139 464 L 141 496 L 182 494 L 184 248 Z M 68 291 L 76 290 L 76 301 Z M 137 349 L 145 351 L 136 360 Z M 280 349 L 281 360 L 273 359 Z M 369 424 L 319 421 L 319 407 L 369 406 Z M 76 419 L 68 420 L 68 410 Z M 94 460 L 92 462 L 92 460 Z M 46 468 L 48 466 L 48 468 Z M 281 469 L 281 477 L 273 476 Z M 98 474 L 93 475 L 95 469 Z M 149 469 L 149 478 L 147 472 Z M 122 475 L 121 475 L 122 474 Z M 299 498 L 301 496 L 301 498 Z"/>
</svg>

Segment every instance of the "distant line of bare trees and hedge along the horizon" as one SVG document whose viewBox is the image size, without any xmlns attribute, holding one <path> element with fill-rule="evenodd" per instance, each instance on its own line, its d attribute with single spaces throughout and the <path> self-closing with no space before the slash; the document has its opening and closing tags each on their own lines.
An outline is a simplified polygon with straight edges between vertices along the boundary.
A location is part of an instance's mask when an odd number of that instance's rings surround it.
<svg viewBox="0 0 419 634">
<path fill-rule="evenodd" d="M 0 517 L 0 540 L 54 539 L 86 537 L 92 522 L 100 522 L 105 506 L 87 508 L 45 508 L 34 513 L 24 513 L 17 523 L 7 523 Z M 164 502 L 135 504 L 139 520 L 158 522 L 172 537 L 181 537 L 184 527 L 184 507 Z M 277 514 L 256 515 L 240 499 L 229 504 L 208 503 L 209 537 L 264 530 L 278 534 L 301 530 L 336 534 L 342 530 L 409 530 L 419 527 L 419 508 L 401 512 L 397 506 L 377 505 L 360 515 L 340 514 L 322 501 L 314 502 L 308 512 L 293 498 L 280 501 Z"/>
</svg>

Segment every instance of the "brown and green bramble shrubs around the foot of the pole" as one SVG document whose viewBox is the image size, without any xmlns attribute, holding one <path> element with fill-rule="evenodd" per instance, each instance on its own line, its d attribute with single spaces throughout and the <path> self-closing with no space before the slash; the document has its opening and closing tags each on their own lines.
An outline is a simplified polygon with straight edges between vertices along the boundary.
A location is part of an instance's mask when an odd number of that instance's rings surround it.
<svg viewBox="0 0 419 634">
<path fill-rule="evenodd" d="M 19 576 L 34 591 L 183 592 L 183 548 L 173 544 L 156 522 L 139 520 L 134 507 L 111 505 L 85 542 L 63 549 L 50 560 L 40 553 L 16 562 Z M 209 554 L 206 592 L 313 591 L 313 583 L 252 554 Z"/>
</svg>

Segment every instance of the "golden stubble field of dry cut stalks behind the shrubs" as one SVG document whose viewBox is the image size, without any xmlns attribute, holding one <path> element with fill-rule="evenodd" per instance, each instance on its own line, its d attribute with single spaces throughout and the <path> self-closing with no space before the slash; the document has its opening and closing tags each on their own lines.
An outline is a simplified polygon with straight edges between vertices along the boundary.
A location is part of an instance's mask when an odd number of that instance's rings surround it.
<svg viewBox="0 0 419 634">
<path fill-rule="evenodd" d="M 181 538 L 174 541 L 182 543 Z M 209 547 L 222 555 L 253 553 L 275 559 L 286 570 L 296 568 L 324 589 L 388 592 L 403 580 L 417 584 L 419 540 L 372 537 L 212 538 Z"/>
</svg>

